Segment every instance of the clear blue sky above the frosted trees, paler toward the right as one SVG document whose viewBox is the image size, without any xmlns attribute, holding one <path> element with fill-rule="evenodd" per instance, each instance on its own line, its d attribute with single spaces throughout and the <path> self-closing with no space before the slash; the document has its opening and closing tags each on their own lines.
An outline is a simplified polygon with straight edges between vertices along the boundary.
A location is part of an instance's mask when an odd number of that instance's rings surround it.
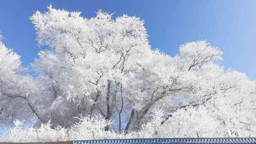
<svg viewBox="0 0 256 144">
<path fill-rule="evenodd" d="M 82 11 L 98 9 L 145 20 L 150 44 L 174 56 L 179 45 L 207 40 L 224 52 L 225 68 L 256 80 L 256 0 L 0 0 L 0 31 L 4 43 L 21 55 L 23 65 L 37 57 L 36 33 L 29 17 L 46 6 Z"/>
</svg>

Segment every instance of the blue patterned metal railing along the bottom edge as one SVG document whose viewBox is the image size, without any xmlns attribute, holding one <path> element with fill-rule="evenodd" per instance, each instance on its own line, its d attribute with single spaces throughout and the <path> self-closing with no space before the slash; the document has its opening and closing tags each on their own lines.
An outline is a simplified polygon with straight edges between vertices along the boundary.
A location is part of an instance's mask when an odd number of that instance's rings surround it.
<svg viewBox="0 0 256 144">
<path fill-rule="evenodd" d="M 73 141 L 73 144 L 256 144 L 256 137 L 105 139 Z"/>
</svg>

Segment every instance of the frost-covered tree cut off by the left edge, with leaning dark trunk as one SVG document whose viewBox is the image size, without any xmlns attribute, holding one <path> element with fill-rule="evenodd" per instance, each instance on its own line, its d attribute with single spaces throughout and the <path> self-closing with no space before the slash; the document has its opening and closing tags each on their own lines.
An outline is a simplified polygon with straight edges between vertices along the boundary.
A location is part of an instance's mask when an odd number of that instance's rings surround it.
<svg viewBox="0 0 256 144">
<path fill-rule="evenodd" d="M 0 36 L 2 37 L 2 36 Z M 0 39 L 0 123 L 11 125 L 15 119 L 36 119 L 45 122 L 38 111 L 33 78 L 21 67 L 20 56 Z"/>
</svg>

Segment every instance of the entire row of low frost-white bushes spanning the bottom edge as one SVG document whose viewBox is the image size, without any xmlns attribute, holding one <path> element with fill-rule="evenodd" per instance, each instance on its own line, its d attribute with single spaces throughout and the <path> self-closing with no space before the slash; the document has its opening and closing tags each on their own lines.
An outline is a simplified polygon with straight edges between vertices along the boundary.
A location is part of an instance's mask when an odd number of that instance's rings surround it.
<svg viewBox="0 0 256 144">
<path fill-rule="evenodd" d="M 109 121 L 99 117 L 79 117 L 79 122 L 70 128 L 52 129 L 50 124 L 42 124 L 39 128 L 22 129 L 22 123 L 0 137 L 2 142 L 49 142 L 93 140 L 110 138 L 164 138 L 164 137 L 251 137 L 256 134 L 255 127 L 250 130 L 237 131 L 225 128 L 216 113 L 203 106 L 177 110 L 164 124 L 164 112 L 159 108 L 151 110 L 152 120 L 143 125 L 139 131 L 131 131 L 127 135 L 114 131 L 105 131 Z M 242 135 L 240 135 L 242 134 Z"/>
</svg>

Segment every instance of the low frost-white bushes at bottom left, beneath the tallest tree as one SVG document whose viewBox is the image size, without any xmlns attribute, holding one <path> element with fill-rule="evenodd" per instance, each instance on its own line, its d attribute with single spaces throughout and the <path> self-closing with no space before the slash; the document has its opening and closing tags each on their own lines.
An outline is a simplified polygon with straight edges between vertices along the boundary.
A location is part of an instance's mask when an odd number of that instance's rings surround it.
<svg viewBox="0 0 256 144">
<path fill-rule="evenodd" d="M 31 126 L 23 129 L 22 122 L 15 121 L 15 126 L 0 136 L 0 142 L 50 142 L 118 137 L 114 132 L 105 131 L 105 126 L 110 125 L 110 122 L 104 118 L 89 116 L 78 118 L 78 123 L 66 129 L 60 126 L 53 129 L 50 122 L 42 124 L 39 128 Z"/>
</svg>

